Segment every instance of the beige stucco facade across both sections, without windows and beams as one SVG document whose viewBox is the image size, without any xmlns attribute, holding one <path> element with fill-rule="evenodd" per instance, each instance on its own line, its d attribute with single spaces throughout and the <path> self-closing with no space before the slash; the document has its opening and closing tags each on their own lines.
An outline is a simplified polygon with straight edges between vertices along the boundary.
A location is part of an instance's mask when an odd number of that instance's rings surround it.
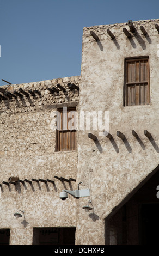
<svg viewBox="0 0 159 256">
<path fill-rule="evenodd" d="M 158 166 L 157 23 L 159 20 L 133 22 L 136 32 L 131 38 L 123 33 L 123 28 L 130 31 L 127 23 L 85 27 L 81 76 L 2 87 L 11 93 L 19 88 L 41 93 L 0 102 L 0 228 L 10 229 L 10 245 L 32 245 L 33 227 L 76 227 L 76 245 L 105 245 L 106 217 Z M 90 31 L 99 37 L 98 41 Z M 123 106 L 125 58 L 142 56 L 149 56 L 150 104 Z M 69 90 L 69 82 L 79 86 L 79 91 Z M 57 83 L 65 87 L 65 93 L 48 91 Z M 63 106 L 76 106 L 78 114 L 108 112 L 113 139 L 101 136 L 99 129 L 78 130 L 77 150 L 56 152 L 55 112 Z M 151 133 L 151 139 L 144 130 Z M 117 131 L 125 135 L 124 141 Z M 89 132 L 96 141 L 88 137 Z M 50 179 L 54 184 L 2 183 L 11 176 L 20 180 Z M 62 182 L 54 176 L 76 182 Z M 79 182 L 83 182 L 81 189 L 90 189 L 90 197 L 59 198 L 63 189 L 76 190 Z M 88 200 L 93 210 L 86 213 L 82 207 Z M 25 225 L 15 220 L 13 214 L 18 210 L 25 211 Z"/>
</svg>

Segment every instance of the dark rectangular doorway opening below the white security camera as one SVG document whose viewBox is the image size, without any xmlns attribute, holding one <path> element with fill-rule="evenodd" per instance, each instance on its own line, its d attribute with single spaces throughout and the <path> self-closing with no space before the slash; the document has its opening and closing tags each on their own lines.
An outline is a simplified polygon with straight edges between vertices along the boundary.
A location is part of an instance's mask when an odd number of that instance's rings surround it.
<svg viewBox="0 0 159 256">
<path fill-rule="evenodd" d="M 75 227 L 33 228 L 33 245 L 75 245 Z"/>
</svg>

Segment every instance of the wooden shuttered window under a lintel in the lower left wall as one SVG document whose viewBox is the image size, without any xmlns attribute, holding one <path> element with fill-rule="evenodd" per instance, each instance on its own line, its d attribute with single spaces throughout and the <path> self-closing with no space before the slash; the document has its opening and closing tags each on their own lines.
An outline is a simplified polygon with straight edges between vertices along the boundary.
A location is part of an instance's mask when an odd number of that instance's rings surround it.
<svg viewBox="0 0 159 256">
<path fill-rule="evenodd" d="M 58 109 L 56 151 L 76 150 L 76 108 Z"/>
</svg>

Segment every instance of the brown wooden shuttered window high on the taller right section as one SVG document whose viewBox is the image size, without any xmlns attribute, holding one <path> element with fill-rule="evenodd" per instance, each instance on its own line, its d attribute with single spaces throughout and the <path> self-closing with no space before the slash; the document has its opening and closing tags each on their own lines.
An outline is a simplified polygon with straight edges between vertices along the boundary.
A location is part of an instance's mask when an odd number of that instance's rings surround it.
<svg viewBox="0 0 159 256">
<path fill-rule="evenodd" d="M 125 59 L 124 106 L 149 105 L 149 58 Z"/>
</svg>

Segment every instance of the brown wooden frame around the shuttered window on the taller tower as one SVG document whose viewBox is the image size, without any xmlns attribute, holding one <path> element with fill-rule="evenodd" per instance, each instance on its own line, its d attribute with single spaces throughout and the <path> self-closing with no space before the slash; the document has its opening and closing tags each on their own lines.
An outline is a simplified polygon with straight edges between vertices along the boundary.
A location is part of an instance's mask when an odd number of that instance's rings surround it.
<svg viewBox="0 0 159 256">
<path fill-rule="evenodd" d="M 127 63 L 133 62 L 133 61 L 139 61 L 139 60 L 146 60 L 148 63 L 148 81 L 140 81 L 140 82 L 131 82 L 127 83 Z M 128 105 L 127 104 L 127 87 L 129 84 L 148 84 L 148 98 L 147 98 L 147 103 L 145 102 L 144 104 L 139 103 L 139 104 L 133 104 L 133 105 Z M 136 95 L 135 95 L 136 97 Z M 135 99 L 136 100 L 136 99 Z M 145 106 L 145 105 L 150 105 L 150 59 L 149 56 L 137 56 L 137 57 L 127 57 L 124 60 L 124 87 L 123 87 L 123 106 Z"/>
</svg>

